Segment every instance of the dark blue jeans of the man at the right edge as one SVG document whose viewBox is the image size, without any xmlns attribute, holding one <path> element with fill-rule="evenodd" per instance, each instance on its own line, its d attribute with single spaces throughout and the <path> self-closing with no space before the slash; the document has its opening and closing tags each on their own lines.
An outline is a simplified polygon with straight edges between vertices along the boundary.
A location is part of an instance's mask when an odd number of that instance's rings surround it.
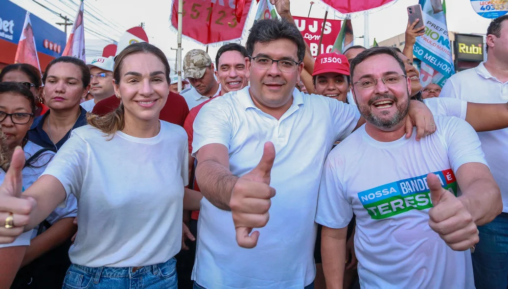
<svg viewBox="0 0 508 289">
<path fill-rule="evenodd" d="M 506 289 L 508 286 L 508 213 L 478 227 L 480 242 L 472 253 L 474 286 Z"/>
</svg>

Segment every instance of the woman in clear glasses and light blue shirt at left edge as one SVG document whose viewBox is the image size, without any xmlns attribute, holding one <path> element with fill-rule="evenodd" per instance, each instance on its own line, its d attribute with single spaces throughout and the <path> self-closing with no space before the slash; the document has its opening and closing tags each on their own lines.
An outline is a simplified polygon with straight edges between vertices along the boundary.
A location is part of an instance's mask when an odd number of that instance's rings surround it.
<svg viewBox="0 0 508 289">
<path fill-rule="evenodd" d="M 12 153 L 17 146 L 23 148 L 24 159 L 26 160 L 22 169 L 23 189 L 28 188 L 39 178 L 54 156 L 53 152 L 27 140 L 27 131 L 33 122 L 35 109 L 36 101 L 34 95 L 26 86 L 17 82 L 0 82 L 0 125 L 2 125 L 3 136 L 0 184 L 4 182 L 5 170 L 9 167 Z M 0 268 L 2 268 L 0 269 L 0 276 L 2 276 L 0 278 L 2 280 L 0 281 L 0 287 L 10 285 L 20 266 L 29 265 L 35 259 L 71 238 L 75 232 L 72 223 L 73 219 L 63 220 L 63 218 L 75 217 L 76 210 L 76 200 L 72 199 L 67 208 L 56 209 L 46 219 L 51 226 L 55 225 L 52 230 L 42 232 L 42 229 L 39 231 L 37 226 L 34 232 L 29 231 L 22 234 L 13 243 L 0 245 Z M 32 244 L 30 244 L 31 239 L 34 239 Z M 69 266 L 68 262 L 67 266 Z M 49 266 L 47 267 L 49 269 Z M 57 272 L 54 272 L 54 267 L 51 269 L 51 274 L 57 274 Z M 9 272 L 4 272 L 4 270 L 9 270 Z M 63 274 L 65 274 L 65 271 L 62 272 L 60 283 L 63 279 Z M 40 280 L 34 280 L 33 278 L 28 280 L 28 276 L 22 278 L 21 275 L 23 274 L 18 273 L 15 281 L 16 285 L 13 285 L 14 288 L 22 287 L 22 284 L 26 285 L 28 282 L 31 282 L 32 285 L 40 284 Z M 46 276 L 45 280 L 53 279 L 50 277 Z M 4 281 L 8 282 L 8 284 L 4 284 Z M 45 281 L 44 284 L 48 284 L 48 282 Z"/>
</svg>

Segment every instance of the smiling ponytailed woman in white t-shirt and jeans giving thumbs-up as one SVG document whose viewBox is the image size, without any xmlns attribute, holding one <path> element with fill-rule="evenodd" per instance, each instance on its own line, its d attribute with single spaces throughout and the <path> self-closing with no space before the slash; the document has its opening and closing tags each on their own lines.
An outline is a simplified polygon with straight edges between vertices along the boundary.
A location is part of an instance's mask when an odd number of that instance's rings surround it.
<svg viewBox="0 0 508 289">
<path fill-rule="evenodd" d="M 37 205 L 13 197 L 19 190 L 16 150 L 9 182 L 0 186 L 0 222 L 7 218 L 14 227 L 0 227 L 0 243 L 33 227 L 73 194 L 79 229 L 63 288 L 177 288 L 174 255 L 181 248 L 182 210 L 199 209 L 201 195 L 184 189 L 187 134 L 158 119 L 169 73 L 166 56 L 153 45 L 135 43 L 120 52 L 113 71 L 120 106 L 105 117 L 89 116 L 90 125 L 73 130 L 24 192 Z"/>
</svg>

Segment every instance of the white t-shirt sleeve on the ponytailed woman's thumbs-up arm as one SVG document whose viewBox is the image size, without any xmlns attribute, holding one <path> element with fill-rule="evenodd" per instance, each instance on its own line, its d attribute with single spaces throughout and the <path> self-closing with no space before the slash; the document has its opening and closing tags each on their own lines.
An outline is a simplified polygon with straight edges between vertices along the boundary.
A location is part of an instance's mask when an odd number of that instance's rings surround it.
<svg viewBox="0 0 508 289">
<path fill-rule="evenodd" d="M 58 179 L 66 191 L 66 199 L 60 208 L 66 207 L 70 194 L 79 199 L 81 186 L 87 170 L 87 143 L 75 132 L 58 150 L 42 176 L 50 175 Z"/>
</svg>

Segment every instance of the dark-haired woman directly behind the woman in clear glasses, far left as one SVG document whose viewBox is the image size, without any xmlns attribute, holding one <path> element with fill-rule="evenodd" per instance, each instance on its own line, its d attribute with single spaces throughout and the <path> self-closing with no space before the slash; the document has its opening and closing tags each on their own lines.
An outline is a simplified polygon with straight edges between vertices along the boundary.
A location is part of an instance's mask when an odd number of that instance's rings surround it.
<svg viewBox="0 0 508 289">
<path fill-rule="evenodd" d="M 39 69 L 24 63 L 11 64 L 6 66 L 2 72 L 0 72 L 0 82 L 3 81 L 21 83 L 31 91 L 36 100 L 34 117 L 38 117 L 39 115 L 46 113 L 49 109 L 46 105 L 44 105 L 44 100 L 41 97 L 42 81 Z"/>
</svg>

